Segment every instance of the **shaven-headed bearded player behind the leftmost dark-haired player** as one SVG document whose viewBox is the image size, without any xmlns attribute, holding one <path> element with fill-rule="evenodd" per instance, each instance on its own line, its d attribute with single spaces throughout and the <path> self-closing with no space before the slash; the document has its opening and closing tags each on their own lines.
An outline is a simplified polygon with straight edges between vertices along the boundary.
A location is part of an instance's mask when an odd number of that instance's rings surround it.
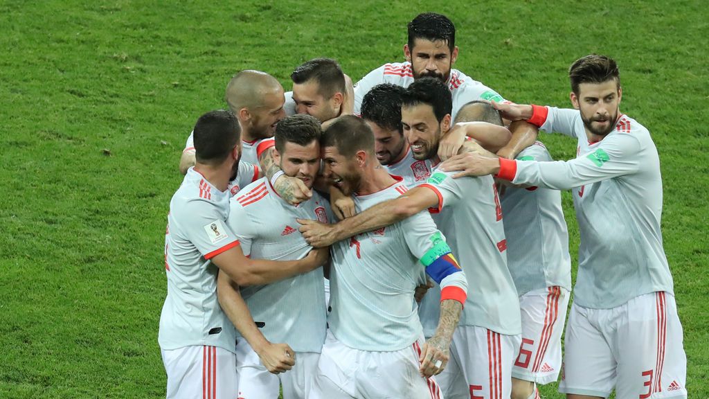
<svg viewBox="0 0 709 399">
<path fill-rule="evenodd" d="M 242 131 L 242 160 L 258 165 L 258 144 L 273 137 L 276 124 L 286 116 L 283 87 L 276 78 L 266 72 L 242 70 L 227 84 L 224 99 L 239 119 Z M 180 172 L 186 173 L 192 165 L 194 140 L 190 133 L 180 158 Z M 258 176 L 258 168 L 255 175 Z"/>
</svg>

